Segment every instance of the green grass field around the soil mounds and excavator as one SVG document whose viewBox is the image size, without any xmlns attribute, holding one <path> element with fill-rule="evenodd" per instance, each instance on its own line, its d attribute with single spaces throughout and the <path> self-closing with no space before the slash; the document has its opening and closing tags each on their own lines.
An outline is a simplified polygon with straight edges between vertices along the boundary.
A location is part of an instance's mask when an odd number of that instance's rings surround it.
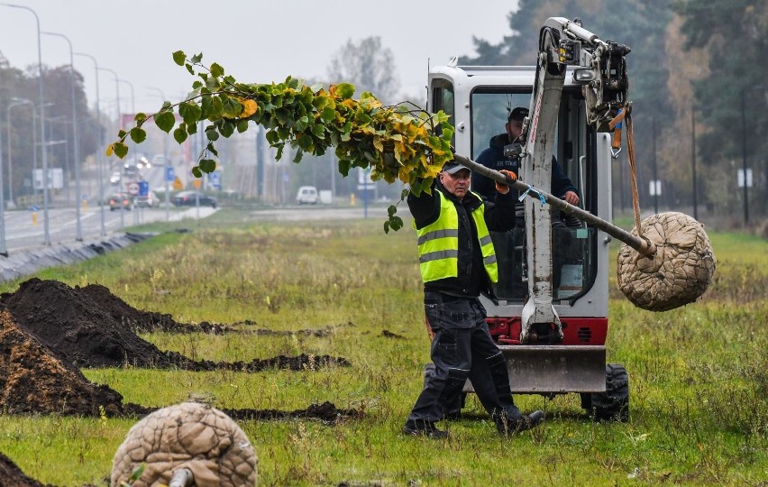
<svg viewBox="0 0 768 487">
<path fill-rule="evenodd" d="M 260 485 L 768 485 L 764 240 L 709 234 L 715 282 L 684 308 L 634 308 L 612 282 L 608 361 L 629 372 L 629 422 L 591 422 L 575 394 L 517 396 L 521 409 L 545 409 L 548 419 L 505 440 L 470 397 L 468 417 L 447 425 L 450 439 L 434 441 L 400 433 L 429 361 L 413 230 L 384 234 L 376 218 L 301 225 L 252 224 L 225 212 L 217 218 L 37 277 L 103 284 L 134 308 L 179 322 L 328 328 L 326 336 L 142 336 L 196 359 L 330 354 L 351 367 L 83 371 L 145 406 L 204 394 L 222 408 L 292 410 L 328 400 L 364 410 L 337 425 L 242 422 L 259 455 Z M 2 415 L 0 452 L 43 483 L 104 485 L 132 424 Z"/>
</svg>

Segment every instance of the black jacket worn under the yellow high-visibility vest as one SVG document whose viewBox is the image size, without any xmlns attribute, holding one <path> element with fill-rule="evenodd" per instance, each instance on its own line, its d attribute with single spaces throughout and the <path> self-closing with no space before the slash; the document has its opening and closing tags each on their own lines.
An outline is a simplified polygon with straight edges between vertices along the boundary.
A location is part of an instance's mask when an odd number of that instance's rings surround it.
<svg viewBox="0 0 768 487">
<path fill-rule="evenodd" d="M 474 176 L 473 176 L 474 177 Z M 437 191 L 441 191 L 445 198 L 453 202 L 459 215 L 459 275 L 455 278 L 433 280 L 425 283 L 425 290 L 434 290 L 454 296 L 478 297 L 480 293 L 492 295 L 490 280 L 482 263 L 478 230 L 471 217 L 471 212 L 481 204 L 485 204 L 485 224 L 490 231 L 506 232 L 515 227 L 515 202 L 513 191 L 506 195 L 498 195 L 496 202 L 483 201 L 472 193 L 460 201 L 443 187 L 439 180 L 435 180 L 432 194 L 425 191 L 416 198 L 413 193 L 408 195 L 408 208 L 414 216 L 416 228 L 424 228 L 437 220 L 440 216 L 440 197 Z"/>
</svg>

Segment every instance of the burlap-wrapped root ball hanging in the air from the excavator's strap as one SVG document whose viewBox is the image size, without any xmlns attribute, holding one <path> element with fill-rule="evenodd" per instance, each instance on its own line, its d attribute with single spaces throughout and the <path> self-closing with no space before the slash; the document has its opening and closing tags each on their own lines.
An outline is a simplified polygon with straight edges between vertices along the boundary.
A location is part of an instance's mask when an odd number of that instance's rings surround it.
<svg viewBox="0 0 768 487">
<path fill-rule="evenodd" d="M 618 289 L 637 308 L 668 311 L 701 296 L 715 273 L 715 254 L 704 225 L 677 212 L 649 216 L 641 234 L 656 245 L 644 257 L 623 243 L 618 252 Z M 637 229 L 632 230 L 637 234 Z"/>
</svg>

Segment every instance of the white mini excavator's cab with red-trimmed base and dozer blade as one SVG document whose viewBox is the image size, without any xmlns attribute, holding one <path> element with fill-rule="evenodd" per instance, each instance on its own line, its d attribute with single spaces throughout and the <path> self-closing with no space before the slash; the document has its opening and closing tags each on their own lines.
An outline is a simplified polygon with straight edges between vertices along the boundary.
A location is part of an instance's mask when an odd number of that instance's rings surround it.
<svg viewBox="0 0 768 487">
<path fill-rule="evenodd" d="M 535 110 L 536 73 L 535 66 L 462 67 L 452 62 L 433 67 L 428 107 L 450 116 L 455 152 L 476 161 L 491 137 L 505 132 L 510 110 L 532 106 L 521 137 L 526 140 L 510 141 L 504 157 L 519 158 L 519 179 L 536 181 L 536 188 L 549 192 L 552 167 L 547 161 L 554 156 L 578 188 L 579 206 L 610 221 L 609 136 L 588 124 L 583 85 L 571 76 L 565 76 L 556 106 Z M 535 124 L 540 121 L 534 117 L 555 118 L 552 133 L 536 134 L 553 139 L 551 155 L 540 158 L 544 163 L 539 164 L 529 157 L 531 131 L 545 129 Z M 481 297 L 489 331 L 507 360 L 513 392 L 549 397 L 579 392 L 585 409 L 595 412 L 606 394 L 613 393 L 615 377 L 626 378 L 626 372 L 622 375 L 606 365 L 610 237 L 564 218 L 536 198 L 524 197 L 519 206 L 516 228 L 491 235 L 499 277 L 496 296 Z M 530 217 L 532 211 L 549 212 L 549 217 Z M 536 239 L 536 234 L 550 234 L 550 238 Z M 533 313 L 528 311 L 532 305 Z M 544 310 L 544 318 L 537 318 L 537 309 Z M 471 383 L 465 391 L 472 391 Z M 608 414 L 605 410 L 596 414 L 601 413 Z"/>
</svg>

